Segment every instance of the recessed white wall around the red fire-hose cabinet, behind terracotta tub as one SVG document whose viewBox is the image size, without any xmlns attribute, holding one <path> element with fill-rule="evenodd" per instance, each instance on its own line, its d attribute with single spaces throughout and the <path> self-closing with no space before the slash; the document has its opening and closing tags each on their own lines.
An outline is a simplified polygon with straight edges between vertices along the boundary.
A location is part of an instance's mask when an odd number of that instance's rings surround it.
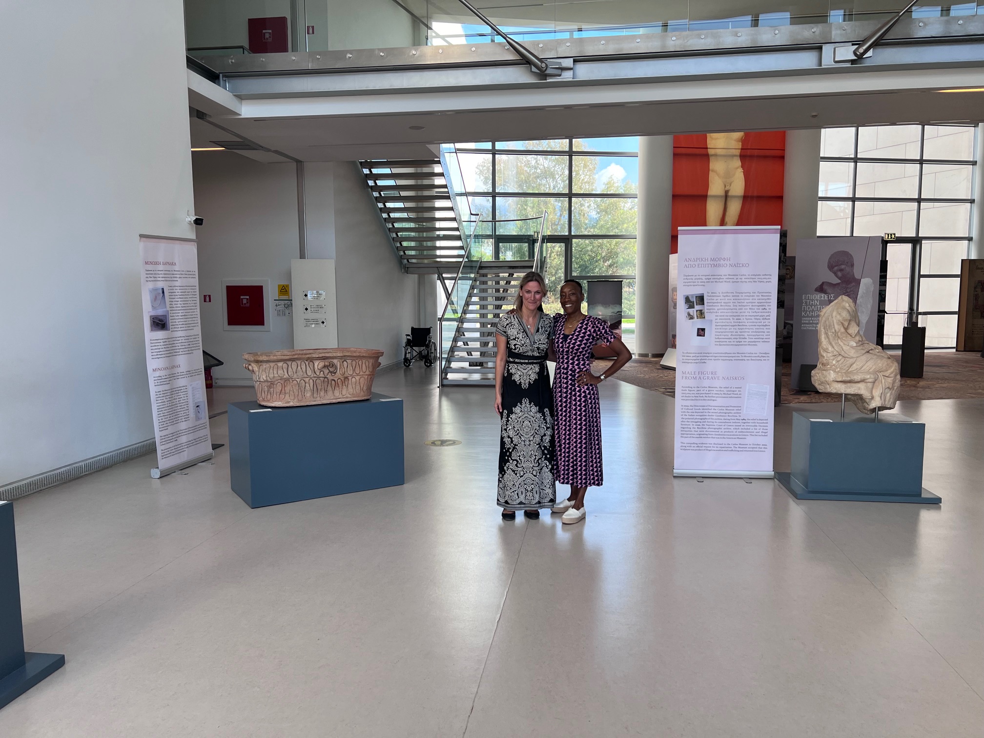
<svg viewBox="0 0 984 738">
<path fill-rule="evenodd" d="M 265 164 L 233 152 L 197 152 L 195 213 L 198 227 L 199 290 L 203 302 L 202 346 L 225 362 L 215 379 L 248 381 L 246 351 L 293 347 L 290 318 L 271 309 L 270 331 L 222 330 L 222 279 L 269 279 L 271 299 L 277 282 L 290 282 L 290 260 L 299 256 L 295 165 Z"/>
</svg>

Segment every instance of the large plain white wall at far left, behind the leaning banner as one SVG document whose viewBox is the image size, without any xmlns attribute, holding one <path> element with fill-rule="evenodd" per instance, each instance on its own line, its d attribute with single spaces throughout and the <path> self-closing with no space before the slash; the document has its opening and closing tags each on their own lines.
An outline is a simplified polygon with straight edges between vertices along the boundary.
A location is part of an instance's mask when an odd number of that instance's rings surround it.
<svg viewBox="0 0 984 738">
<path fill-rule="evenodd" d="M 0 484 L 154 436 L 138 235 L 194 236 L 181 0 L 3 19 Z"/>
</svg>

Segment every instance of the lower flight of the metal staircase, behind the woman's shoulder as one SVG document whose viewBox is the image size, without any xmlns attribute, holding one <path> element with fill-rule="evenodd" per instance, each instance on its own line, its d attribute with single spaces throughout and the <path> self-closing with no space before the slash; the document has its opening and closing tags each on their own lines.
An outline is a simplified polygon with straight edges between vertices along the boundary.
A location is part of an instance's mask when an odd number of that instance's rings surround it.
<svg viewBox="0 0 984 738">
<path fill-rule="evenodd" d="M 532 268 L 532 260 L 479 264 L 444 363 L 443 385 L 495 385 L 495 327 L 513 309 L 520 279 Z"/>
</svg>

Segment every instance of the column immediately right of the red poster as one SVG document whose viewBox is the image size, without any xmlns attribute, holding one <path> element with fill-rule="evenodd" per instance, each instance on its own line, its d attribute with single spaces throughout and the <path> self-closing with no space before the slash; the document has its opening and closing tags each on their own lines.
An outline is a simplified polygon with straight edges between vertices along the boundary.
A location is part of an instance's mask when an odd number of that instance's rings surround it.
<svg viewBox="0 0 984 738">
<path fill-rule="evenodd" d="M 817 237 L 817 192 L 820 180 L 820 129 L 786 132 L 782 227 L 786 254 L 796 254 L 796 241 Z"/>
</svg>

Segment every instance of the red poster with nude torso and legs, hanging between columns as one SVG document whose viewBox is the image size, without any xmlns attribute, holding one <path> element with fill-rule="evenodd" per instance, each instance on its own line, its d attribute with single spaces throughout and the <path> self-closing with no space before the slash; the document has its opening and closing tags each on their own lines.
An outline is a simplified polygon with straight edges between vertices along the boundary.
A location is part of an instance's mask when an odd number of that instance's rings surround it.
<svg viewBox="0 0 984 738">
<path fill-rule="evenodd" d="M 672 245 L 681 225 L 781 225 L 786 132 L 673 137 Z"/>
</svg>

